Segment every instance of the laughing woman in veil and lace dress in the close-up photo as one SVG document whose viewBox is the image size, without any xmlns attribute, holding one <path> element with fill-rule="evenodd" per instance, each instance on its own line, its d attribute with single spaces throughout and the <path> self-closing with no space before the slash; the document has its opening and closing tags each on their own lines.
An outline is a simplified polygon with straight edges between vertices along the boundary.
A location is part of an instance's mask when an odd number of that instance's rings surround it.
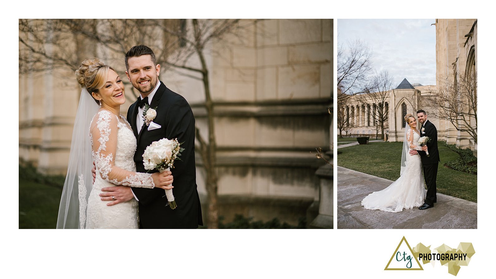
<svg viewBox="0 0 496 279">
<path fill-rule="evenodd" d="M 76 70 L 76 79 L 83 89 L 57 228 L 138 228 L 137 201 L 107 206 L 99 196 L 100 189 L 112 184 L 172 189 L 171 172 L 135 172 L 136 138 L 120 114 L 120 107 L 125 103 L 124 84 L 112 67 L 97 58 L 85 60 Z M 93 162 L 96 166 L 94 184 Z"/>
</svg>

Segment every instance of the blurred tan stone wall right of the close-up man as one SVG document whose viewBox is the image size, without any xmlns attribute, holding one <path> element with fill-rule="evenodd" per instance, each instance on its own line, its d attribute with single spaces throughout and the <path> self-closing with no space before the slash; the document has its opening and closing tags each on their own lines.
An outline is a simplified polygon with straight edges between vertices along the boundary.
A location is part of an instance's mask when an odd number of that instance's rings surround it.
<svg viewBox="0 0 496 279">
<path fill-rule="evenodd" d="M 262 220 L 284 209 L 297 224 L 319 196 L 315 171 L 323 161 L 310 151 L 329 150 L 332 141 L 332 20 L 263 20 L 244 35 L 210 60 L 218 193 L 238 201 L 221 199 L 221 209 L 228 219 L 239 212 Z M 193 104 L 197 122 L 203 112 Z M 278 210 L 252 206 L 267 197 Z"/>
</svg>

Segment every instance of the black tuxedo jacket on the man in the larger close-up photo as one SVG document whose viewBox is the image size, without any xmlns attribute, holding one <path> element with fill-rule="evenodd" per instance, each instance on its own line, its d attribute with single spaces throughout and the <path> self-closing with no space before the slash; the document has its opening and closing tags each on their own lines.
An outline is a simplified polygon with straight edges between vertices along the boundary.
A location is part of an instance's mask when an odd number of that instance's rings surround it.
<svg viewBox="0 0 496 279">
<path fill-rule="evenodd" d="M 167 197 L 163 189 L 132 188 L 139 200 L 140 228 L 197 228 L 198 225 L 203 225 L 203 221 L 196 189 L 193 112 L 186 99 L 171 91 L 163 82 L 155 92 L 150 108 L 157 111 L 153 122 L 161 128 L 148 131 L 148 126 L 143 125 L 139 134 L 136 127 L 137 101 L 127 111 L 127 121 L 131 124 L 137 142 L 134 153 L 136 171 L 157 172 L 143 167 L 143 153 L 153 141 L 177 138 L 180 143 L 184 142 L 181 146 L 185 150 L 181 153 L 181 160 L 176 160 L 174 168 L 171 169 L 174 176 L 172 184 L 176 209 L 166 207 Z"/>
</svg>

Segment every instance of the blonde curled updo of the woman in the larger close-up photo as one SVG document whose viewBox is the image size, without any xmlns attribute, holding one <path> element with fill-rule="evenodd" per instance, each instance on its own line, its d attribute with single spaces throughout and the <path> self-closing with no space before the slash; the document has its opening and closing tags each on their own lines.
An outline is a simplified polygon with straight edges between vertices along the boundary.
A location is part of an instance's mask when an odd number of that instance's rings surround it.
<svg viewBox="0 0 496 279">
<path fill-rule="evenodd" d="M 76 79 L 81 87 L 85 87 L 86 90 L 93 97 L 92 92 L 97 93 L 98 89 L 105 85 L 109 69 L 114 70 L 112 67 L 104 64 L 98 58 L 90 58 L 81 62 L 81 66 L 76 70 Z M 117 72 L 117 71 L 116 71 Z M 95 102 L 100 103 L 94 97 Z"/>
</svg>

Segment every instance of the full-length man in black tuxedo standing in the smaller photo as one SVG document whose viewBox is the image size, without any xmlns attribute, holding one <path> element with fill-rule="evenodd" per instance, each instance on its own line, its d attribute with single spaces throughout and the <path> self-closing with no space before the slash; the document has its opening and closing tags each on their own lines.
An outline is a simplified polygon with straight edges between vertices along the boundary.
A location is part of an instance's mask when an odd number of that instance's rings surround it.
<svg viewBox="0 0 496 279">
<path fill-rule="evenodd" d="M 424 179 L 427 184 L 427 195 L 424 205 L 419 209 L 430 209 L 434 207 L 436 199 L 436 185 L 435 180 L 437 177 L 437 165 L 439 164 L 439 151 L 437 150 L 437 129 L 434 124 L 427 120 L 427 114 L 424 110 L 417 111 L 417 119 L 422 124 L 420 128 L 421 137 L 429 137 L 430 142 L 427 143 L 427 151 L 410 150 L 410 155 L 419 154 L 424 168 Z"/>
</svg>

